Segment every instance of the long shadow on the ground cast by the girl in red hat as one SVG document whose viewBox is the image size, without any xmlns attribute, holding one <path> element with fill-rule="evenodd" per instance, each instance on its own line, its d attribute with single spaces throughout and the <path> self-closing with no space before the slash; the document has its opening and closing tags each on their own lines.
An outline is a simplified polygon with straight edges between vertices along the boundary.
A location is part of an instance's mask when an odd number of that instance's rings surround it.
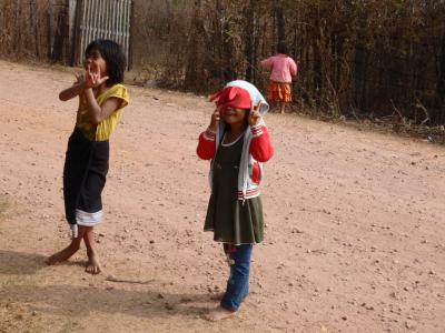
<svg viewBox="0 0 445 333">
<path fill-rule="evenodd" d="M 158 284 L 158 283 L 157 283 Z M 151 289 L 151 287 L 150 287 Z M 109 314 L 127 314 L 138 317 L 200 317 L 210 306 L 204 294 L 174 294 L 160 287 L 152 290 L 119 290 L 80 285 L 11 285 L 0 295 L 13 295 L 14 302 L 27 303 L 32 310 L 50 315 L 85 317 L 97 311 Z M 214 304 L 215 306 L 216 304 Z"/>
</svg>

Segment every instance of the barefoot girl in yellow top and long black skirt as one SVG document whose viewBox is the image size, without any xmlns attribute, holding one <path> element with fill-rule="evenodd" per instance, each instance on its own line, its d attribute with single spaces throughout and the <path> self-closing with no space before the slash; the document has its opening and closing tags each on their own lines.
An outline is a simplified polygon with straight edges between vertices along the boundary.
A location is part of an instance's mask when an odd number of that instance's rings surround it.
<svg viewBox="0 0 445 333">
<path fill-rule="evenodd" d="M 87 47 L 85 54 L 85 73 L 59 94 L 62 101 L 79 97 L 76 127 L 68 141 L 63 167 L 65 211 L 72 239 L 47 263 L 68 260 L 83 240 L 88 255 L 86 271 L 97 274 L 101 268 L 92 246 L 93 229 L 102 219 L 101 192 L 108 172 L 108 140 L 128 104 L 128 93 L 121 84 L 126 59 L 119 44 L 96 40 Z"/>
</svg>

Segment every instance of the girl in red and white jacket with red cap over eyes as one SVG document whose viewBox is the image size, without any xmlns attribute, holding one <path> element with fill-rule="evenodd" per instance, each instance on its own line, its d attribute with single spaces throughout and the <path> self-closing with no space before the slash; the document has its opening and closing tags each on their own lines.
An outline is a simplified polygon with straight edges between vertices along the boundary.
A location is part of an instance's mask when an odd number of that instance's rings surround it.
<svg viewBox="0 0 445 333">
<path fill-rule="evenodd" d="M 205 316 L 210 321 L 235 313 L 249 293 L 253 244 L 263 241 L 264 231 L 261 163 L 274 153 L 261 117 L 269 105 L 255 85 L 229 82 L 212 100 L 217 108 L 197 148 L 200 159 L 211 160 L 211 195 L 204 229 L 222 243 L 230 276 L 220 305 Z"/>
</svg>

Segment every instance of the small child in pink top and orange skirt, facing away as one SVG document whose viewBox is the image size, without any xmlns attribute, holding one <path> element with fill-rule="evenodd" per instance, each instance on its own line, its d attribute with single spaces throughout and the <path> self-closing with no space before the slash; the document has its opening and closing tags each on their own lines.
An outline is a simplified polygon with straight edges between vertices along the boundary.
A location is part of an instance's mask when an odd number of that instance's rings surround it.
<svg viewBox="0 0 445 333">
<path fill-rule="evenodd" d="M 260 62 L 265 69 L 270 69 L 270 82 L 267 85 L 267 99 L 269 102 L 279 103 L 280 113 L 285 113 L 286 103 L 291 101 L 290 83 L 297 75 L 297 64 L 287 56 L 285 42 L 277 44 L 277 54 Z"/>
</svg>

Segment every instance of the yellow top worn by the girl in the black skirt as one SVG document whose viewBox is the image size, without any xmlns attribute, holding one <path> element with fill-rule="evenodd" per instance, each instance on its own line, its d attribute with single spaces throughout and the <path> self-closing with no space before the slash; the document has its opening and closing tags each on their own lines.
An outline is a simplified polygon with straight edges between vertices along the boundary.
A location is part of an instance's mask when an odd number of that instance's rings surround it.
<svg viewBox="0 0 445 333">
<path fill-rule="evenodd" d="M 82 94 L 79 100 L 79 109 L 77 111 L 76 127 L 90 141 L 106 141 L 115 131 L 120 118 L 122 117 L 123 108 L 128 105 L 129 97 L 127 88 L 123 84 L 115 84 L 96 98 L 99 107 L 101 107 L 109 98 L 118 98 L 122 102 L 115 112 L 103 119 L 99 124 L 92 124 L 88 117 L 87 100 Z"/>
</svg>

